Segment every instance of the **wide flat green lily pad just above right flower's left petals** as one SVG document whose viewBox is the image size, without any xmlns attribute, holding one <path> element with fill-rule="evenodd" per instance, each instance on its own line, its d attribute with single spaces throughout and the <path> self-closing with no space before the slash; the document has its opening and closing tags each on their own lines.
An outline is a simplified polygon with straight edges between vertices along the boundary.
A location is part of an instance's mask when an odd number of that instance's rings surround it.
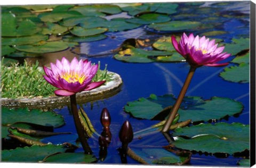
<svg viewBox="0 0 256 168">
<path fill-rule="evenodd" d="M 195 30 L 200 26 L 200 22 L 194 21 L 170 21 L 165 23 L 150 24 L 148 28 L 153 28 L 158 31 L 184 31 Z"/>
</svg>

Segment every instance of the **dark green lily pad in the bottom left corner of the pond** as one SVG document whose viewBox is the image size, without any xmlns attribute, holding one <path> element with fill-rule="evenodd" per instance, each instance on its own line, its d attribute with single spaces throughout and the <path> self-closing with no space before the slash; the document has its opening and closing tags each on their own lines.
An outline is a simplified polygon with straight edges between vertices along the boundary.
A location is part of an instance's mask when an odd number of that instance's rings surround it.
<svg viewBox="0 0 256 168">
<path fill-rule="evenodd" d="M 46 145 L 46 146 L 31 146 L 23 148 L 15 148 L 11 150 L 2 150 L 2 161 L 4 162 L 39 162 L 46 156 L 66 152 L 66 145 Z"/>
</svg>

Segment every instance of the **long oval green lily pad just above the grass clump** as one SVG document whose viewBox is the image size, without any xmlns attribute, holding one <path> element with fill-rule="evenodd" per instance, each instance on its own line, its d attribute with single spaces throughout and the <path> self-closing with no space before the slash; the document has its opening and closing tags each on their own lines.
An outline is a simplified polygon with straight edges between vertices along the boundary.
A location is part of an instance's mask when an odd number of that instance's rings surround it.
<svg viewBox="0 0 256 168">
<path fill-rule="evenodd" d="M 14 47 L 18 51 L 28 52 L 28 53 L 52 53 L 63 51 L 67 49 L 68 43 L 63 41 L 49 41 L 45 43 L 37 43 L 35 45 L 22 45 Z"/>
</svg>

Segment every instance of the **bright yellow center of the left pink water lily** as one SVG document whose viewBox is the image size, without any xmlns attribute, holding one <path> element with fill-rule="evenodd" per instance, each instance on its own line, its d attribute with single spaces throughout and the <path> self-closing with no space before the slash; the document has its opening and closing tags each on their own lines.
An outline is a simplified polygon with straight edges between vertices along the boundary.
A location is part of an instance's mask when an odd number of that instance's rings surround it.
<svg viewBox="0 0 256 168">
<path fill-rule="evenodd" d="M 80 84 L 86 79 L 84 74 L 78 74 L 77 72 L 63 72 L 60 74 L 60 78 L 65 79 L 69 83 L 79 82 Z"/>
</svg>

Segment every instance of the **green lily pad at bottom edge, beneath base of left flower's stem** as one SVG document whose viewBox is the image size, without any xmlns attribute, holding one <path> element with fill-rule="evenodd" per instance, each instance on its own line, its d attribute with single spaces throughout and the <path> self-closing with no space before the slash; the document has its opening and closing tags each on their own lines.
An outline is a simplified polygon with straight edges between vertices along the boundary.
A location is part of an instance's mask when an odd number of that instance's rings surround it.
<svg viewBox="0 0 256 168">
<path fill-rule="evenodd" d="M 84 153 L 60 153 L 46 157 L 43 162 L 51 163 L 92 163 L 97 158 L 93 155 L 85 155 Z"/>
</svg>

